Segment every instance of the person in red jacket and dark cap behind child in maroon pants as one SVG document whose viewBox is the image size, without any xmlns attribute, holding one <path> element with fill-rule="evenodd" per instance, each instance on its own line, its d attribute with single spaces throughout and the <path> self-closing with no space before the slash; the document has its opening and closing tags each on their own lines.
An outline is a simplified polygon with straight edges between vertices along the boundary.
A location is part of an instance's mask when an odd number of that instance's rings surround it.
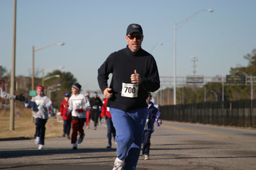
<svg viewBox="0 0 256 170">
<path fill-rule="evenodd" d="M 67 134 L 67 139 L 70 139 L 70 128 L 71 128 L 71 121 L 72 121 L 72 116 L 71 114 L 68 114 L 66 116 L 66 112 L 68 109 L 68 98 L 70 95 L 66 93 L 64 95 L 64 100 L 60 104 L 60 115 L 62 116 L 63 119 L 63 134 L 62 137 L 65 137 Z"/>
</svg>

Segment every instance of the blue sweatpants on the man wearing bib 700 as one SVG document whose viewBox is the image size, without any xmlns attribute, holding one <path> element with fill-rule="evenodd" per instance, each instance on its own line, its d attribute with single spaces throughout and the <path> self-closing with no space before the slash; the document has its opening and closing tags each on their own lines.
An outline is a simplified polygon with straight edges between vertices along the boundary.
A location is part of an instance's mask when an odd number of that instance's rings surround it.
<svg viewBox="0 0 256 170">
<path fill-rule="evenodd" d="M 116 129 L 116 155 L 120 160 L 125 160 L 124 170 L 136 169 L 148 109 L 145 107 L 124 112 L 120 109 L 110 108 L 109 112 L 111 112 Z"/>
</svg>

